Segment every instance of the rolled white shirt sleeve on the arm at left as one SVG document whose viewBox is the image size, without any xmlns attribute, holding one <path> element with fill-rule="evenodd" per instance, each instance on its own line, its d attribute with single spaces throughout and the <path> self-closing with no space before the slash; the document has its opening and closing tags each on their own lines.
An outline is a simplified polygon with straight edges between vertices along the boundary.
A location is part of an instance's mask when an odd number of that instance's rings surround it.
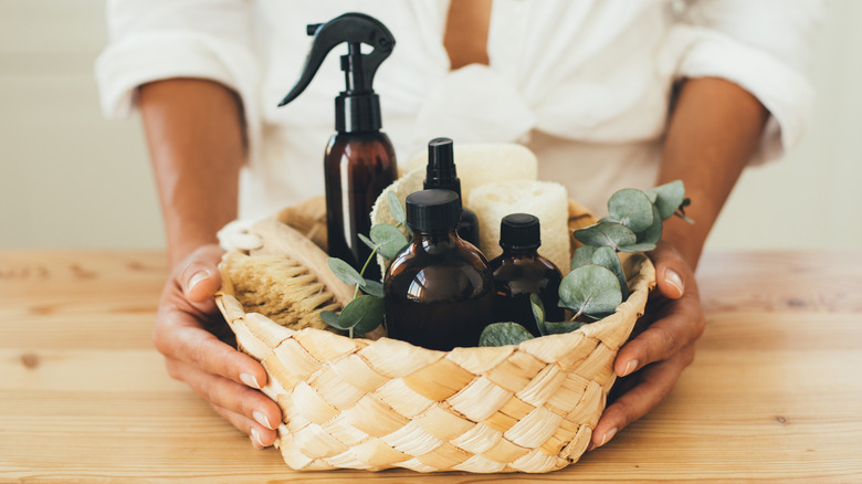
<svg viewBox="0 0 862 484">
<path fill-rule="evenodd" d="M 128 116 L 141 84 L 206 78 L 240 95 L 246 127 L 255 131 L 259 66 L 250 10 L 243 0 L 109 0 L 111 42 L 95 66 L 105 116 Z"/>
</svg>

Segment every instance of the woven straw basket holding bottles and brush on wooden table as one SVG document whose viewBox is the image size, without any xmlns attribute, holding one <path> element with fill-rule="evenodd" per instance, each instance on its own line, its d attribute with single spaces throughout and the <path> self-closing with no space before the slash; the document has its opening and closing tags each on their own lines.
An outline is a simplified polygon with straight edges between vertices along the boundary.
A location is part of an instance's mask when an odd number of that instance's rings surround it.
<svg viewBox="0 0 862 484">
<path fill-rule="evenodd" d="M 325 282 L 330 303 L 345 304 L 353 288 L 332 281 L 323 250 L 297 254 L 295 238 L 302 235 L 284 224 L 319 243 L 320 204 L 308 202 L 260 222 L 251 230 L 260 243 L 246 253 L 299 261 Z M 571 229 L 595 222 L 575 202 L 569 214 Z M 617 351 L 655 284 L 643 254 L 626 254 L 623 270 L 631 295 L 605 319 L 518 346 L 448 353 L 280 326 L 246 313 L 224 266 L 217 303 L 240 348 L 266 368 L 263 391 L 284 414 L 275 445 L 292 469 L 542 473 L 586 451 L 614 381 Z"/>
</svg>

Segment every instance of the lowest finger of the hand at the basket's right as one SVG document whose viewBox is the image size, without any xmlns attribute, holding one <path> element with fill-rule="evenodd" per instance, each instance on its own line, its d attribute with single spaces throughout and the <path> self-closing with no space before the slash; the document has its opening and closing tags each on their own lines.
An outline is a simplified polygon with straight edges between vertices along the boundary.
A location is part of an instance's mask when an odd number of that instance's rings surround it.
<svg viewBox="0 0 862 484">
<path fill-rule="evenodd" d="M 694 344 L 673 358 L 644 368 L 640 382 L 611 403 L 592 431 L 592 449 L 605 445 L 629 423 L 658 407 L 676 385 L 682 370 L 694 360 Z"/>
</svg>

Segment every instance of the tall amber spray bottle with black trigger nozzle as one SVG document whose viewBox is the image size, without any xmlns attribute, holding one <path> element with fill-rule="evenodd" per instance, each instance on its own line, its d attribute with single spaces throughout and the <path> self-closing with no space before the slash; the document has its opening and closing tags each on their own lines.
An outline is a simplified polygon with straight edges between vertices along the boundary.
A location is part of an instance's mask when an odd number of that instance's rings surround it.
<svg viewBox="0 0 862 484">
<path fill-rule="evenodd" d="M 380 130 L 380 98 L 371 87 L 377 69 L 395 48 L 395 38 L 386 25 L 362 13 L 308 25 L 307 33 L 314 41 L 302 75 L 278 105 L 295 99 L 329 51 L 347 43 L 348 53 L 341 56 L 346 87 L 335 98 L 336 134 L 324 156 L 327 252 L 359 271 L 371 253 L 359 234 L 368 234 L 375 200 L 398 176 L 395 149 Z M 362 54 L 361 44 L 372 51 Z M 365 276 L 380 280 L 377 264 L 368 264 Z"/>
</svg>

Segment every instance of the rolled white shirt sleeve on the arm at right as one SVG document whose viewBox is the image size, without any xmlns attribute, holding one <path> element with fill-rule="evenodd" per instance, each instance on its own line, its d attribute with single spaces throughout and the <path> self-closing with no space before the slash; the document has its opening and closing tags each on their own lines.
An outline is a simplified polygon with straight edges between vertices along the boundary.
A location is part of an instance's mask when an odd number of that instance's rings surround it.
<svg viewBox="0 0 862 484">
<path fill-rule="evenodd" d="M 805 133 L 813 98 L 806 70 L 822 17 L 822 0 L 695 0 L 671 32 L 677 78 L 726 78 L 769 109 L 753 164 L 780 158 Z"/>
</svg>

